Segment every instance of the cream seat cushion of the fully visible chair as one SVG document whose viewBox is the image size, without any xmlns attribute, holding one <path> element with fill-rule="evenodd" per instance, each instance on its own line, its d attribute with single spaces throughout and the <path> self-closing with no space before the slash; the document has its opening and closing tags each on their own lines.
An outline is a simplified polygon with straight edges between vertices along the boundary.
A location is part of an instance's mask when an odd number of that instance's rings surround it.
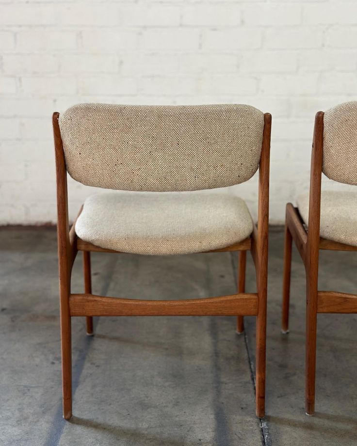
<svg viewBox="0 0 357 446">
<path fill-rule="evenodd" d="M 76 233 L 116 251 L 188 254 L 223 248 L 253 230 L 241 198 L 209 192 L 106 192 L 84 202 Z"/>
</svg>

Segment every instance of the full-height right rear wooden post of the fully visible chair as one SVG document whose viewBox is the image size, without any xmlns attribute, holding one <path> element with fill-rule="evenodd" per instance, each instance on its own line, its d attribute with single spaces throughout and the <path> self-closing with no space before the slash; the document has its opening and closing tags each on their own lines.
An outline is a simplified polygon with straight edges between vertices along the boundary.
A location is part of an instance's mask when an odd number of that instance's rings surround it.
<svg viewBox="0 0 357 446">
<path fill-rule="evenodd" d="M 268 278 L 268 225 L 269 225 L 269 162 L 272 116 L 264 114 L 263 142 L 259 164 L 258 231 L 256 241 L 256 269 L 258 291 L 256 411 L 258 417 L 265 413 L 265 352 L 266 305 Z"/>
</svg>

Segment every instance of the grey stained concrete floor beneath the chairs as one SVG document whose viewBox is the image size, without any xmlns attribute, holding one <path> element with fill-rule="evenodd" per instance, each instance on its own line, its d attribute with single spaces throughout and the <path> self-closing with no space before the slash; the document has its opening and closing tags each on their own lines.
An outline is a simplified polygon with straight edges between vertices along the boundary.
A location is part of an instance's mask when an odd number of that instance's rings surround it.
<svg viewBox="0 0 357 446">
<path fill-rule="evenodd" d="M 280 334 L 283 234 L 270 234 L 267 402 L 255 417 L 255 318 L 73 321 L 74 417 L 62 418 L 56 235 L 0 231 L 0 445 L 357 445 L 357 315 L 319 315 L 317 398 L 304 414 L 304 269 L 294 251 L 291 332 Z M 322 252 L 320 288 L 356 292 L 355 253 Z M 81 256 L 73 292 L 82 292 Z M 147 299 L 235 291 L 229 253 L 92 255 L 93 292 Z M 247 291 L 255 291 L 251 259 Z"/>
</svg>

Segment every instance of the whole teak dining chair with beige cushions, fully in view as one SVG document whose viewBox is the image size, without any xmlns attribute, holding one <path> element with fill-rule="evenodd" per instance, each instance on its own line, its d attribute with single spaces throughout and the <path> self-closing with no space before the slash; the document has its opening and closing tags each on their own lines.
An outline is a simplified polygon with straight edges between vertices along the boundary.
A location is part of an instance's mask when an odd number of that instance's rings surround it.
<svg viewBox="0 0 357 446">
<path fill-rule="evenodd" d="M 257 316 L 256 413 L 264 416 L 271 115 L 247 105 L 80 104 L 53 114 L 57 170 L 63 416 L 72 416 L 71 318 Z M 258 227 L 244 201 L 204 189 L 247 181 L 259 167 Z M 90 196 L 71 229 L 67 176 L 116 189 Z M 153 193 L 154 192 L 154 193 Z M 244 292 L 251 251 L 257 292 Z M 71 293 L 83 252 L 84 293 Z M 92 294 L 90 252 L 174 255 L 239 251 L 237 293 L 180 301 Z"/>
</svg>

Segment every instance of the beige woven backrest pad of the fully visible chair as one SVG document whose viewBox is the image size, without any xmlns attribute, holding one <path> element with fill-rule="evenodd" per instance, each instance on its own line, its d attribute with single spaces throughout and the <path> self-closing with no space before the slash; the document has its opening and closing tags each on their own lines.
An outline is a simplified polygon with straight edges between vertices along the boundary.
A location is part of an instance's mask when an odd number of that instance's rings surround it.
<svg viewBox="0 0 357 446">
<path fill-rule="evenodd" d="M 258 169 L 264 115 L 248 105 L 79 104 L 59 118 L 69 175 L 123 191 L 195 191 Z"/>
</svg>

